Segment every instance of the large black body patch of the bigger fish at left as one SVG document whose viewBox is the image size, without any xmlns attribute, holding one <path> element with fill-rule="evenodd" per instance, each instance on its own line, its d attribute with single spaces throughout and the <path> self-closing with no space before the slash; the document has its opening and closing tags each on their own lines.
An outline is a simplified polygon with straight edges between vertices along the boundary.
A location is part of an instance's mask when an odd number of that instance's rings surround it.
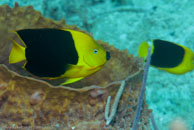
<svg viewBox="0 0 194 130">
<path fill-rule="evenodd" d="M 26 44 L 25 68 L 38 77 L 58 77 L 68 64 L 77 64 L 78 53 L 69 31 L 25 29 L 17 31 Z"/>
</svg>

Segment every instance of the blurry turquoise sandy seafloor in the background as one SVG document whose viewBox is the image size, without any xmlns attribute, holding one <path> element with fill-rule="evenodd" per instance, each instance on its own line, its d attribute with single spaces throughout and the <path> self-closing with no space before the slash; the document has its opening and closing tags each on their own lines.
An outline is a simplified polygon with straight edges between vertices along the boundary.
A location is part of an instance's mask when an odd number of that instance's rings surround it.
<svg viewBox="0 0 194 130">
<path fill-rule="evenodd" d="M 163 39 L 194 51 L 194 1 L 191 0 L 0 0 L 32 5 L 45 17 L 66 19 L 92 33 L 95 39 L 128 49 L 137 56 L 142 41 Z M 194 71 L 173 75 L 150 68 L 146 100 L 159 130 L 181 120 L 194 130 Z"/>
</svg>

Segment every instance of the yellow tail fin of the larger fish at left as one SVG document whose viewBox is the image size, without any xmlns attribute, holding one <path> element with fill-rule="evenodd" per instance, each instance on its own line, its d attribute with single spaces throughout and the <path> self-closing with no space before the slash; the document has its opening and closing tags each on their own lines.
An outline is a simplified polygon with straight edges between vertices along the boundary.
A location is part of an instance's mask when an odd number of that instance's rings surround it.
<svg viewBox="0 0 194 130">
<path fill-rule="evenodd" d="M 17 63 L 23 60 L 26 60 L 25 57 L 25 48 L 19 45 L 16 41 L 11 39 L 13 42 L 13 47 L 9 55 L 9 64 Z"/>
</svg>

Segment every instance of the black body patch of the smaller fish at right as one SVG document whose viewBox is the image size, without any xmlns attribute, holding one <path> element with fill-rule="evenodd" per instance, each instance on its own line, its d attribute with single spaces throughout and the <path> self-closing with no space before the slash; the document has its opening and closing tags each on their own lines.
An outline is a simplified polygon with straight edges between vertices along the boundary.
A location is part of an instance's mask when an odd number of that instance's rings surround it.
<svg viewBox="0 0 194 130">
<path fill-rule="evenodd" d="M 161 68 L 173 68 L 182 62 L 185 54 L 184 48 L 163 40 L 154 40 L 153 42 L 154 52 L 151 57 L 151 65 Z"/>
</svg>

